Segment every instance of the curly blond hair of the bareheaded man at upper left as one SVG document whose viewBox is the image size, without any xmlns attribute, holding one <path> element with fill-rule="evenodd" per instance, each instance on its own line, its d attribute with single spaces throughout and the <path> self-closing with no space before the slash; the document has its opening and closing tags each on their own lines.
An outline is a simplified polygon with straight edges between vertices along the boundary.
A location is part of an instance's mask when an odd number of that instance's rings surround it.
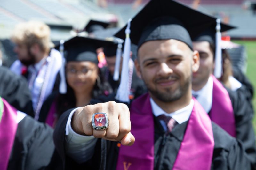
<svg viewBox="0 0 256 170">
<path fill-rule="evenodd" d="M 12 41 L 30 48 L 38 44 L 43 52 L 50 50 L 50 27 L 40 21 L 23 22 L 15 26 Z"/>
</svg>

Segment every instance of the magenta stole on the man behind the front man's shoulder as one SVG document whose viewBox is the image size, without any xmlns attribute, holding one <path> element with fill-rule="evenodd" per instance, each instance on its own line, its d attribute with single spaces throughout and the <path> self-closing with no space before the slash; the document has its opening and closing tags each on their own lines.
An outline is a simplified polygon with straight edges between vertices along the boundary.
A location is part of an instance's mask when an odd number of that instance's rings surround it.
<svg viewBox="0 0 256 170">
<path fill-rule="evenodd" d="M 229 135 L 236 137 L 234 110 L 228 91 L 214 76 L 212 80 L 212 108 L 209 116 L 212 122 L 218 124 Z"/>
</svg>

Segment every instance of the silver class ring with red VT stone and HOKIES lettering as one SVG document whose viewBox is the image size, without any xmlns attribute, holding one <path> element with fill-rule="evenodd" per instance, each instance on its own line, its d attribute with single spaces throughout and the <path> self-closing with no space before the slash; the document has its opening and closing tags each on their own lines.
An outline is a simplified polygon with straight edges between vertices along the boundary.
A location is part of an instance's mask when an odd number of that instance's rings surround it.
<svg viewBox="0 0 256 170">
<path fill-rule="evenodd" d="M 94 113 L 92 115 L 92 128 L 95 130 L 105 130 L 108 128 L 108 116 L 106 113 Z"/>
</svg>

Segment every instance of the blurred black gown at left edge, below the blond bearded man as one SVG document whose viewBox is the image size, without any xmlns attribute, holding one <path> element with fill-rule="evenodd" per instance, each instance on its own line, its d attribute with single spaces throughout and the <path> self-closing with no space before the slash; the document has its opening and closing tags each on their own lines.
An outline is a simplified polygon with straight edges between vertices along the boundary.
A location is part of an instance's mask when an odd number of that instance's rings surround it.
<svg viewBox="0 0 256 170">
<path fill-rule="evenodd" d="M 32 98 L 26 79 L 4 66 L 0 67 L 0 96 L 17 110 L 34 117 Z"/>
</svg>

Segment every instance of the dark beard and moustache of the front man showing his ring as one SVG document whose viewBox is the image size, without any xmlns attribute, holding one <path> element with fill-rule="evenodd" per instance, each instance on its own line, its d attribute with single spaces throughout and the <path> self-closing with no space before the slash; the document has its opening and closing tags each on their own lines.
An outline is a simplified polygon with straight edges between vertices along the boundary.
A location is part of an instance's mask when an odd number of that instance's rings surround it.
<svg viewBox="0 0 256 170">
<path fill-rule="evenodd" d="M 171 79 L 172 76 L 165 78 L 158 78 L 161 80 Z M 191 76 L 189 76 L 184 85 L 179 85 L 176 90 L 172 90 L 171 88 L 165 89 L 165 92 L 159 91 L 157 88 L 151 88 L 148 84 L 146 84 L 148 91 L 155 96 L 158 100 L 163 102 L 173 102 L 179 100 L 182 96 L 184 96 L 188 92 L 188 87 L 191 83 Z"/>
</svg>

